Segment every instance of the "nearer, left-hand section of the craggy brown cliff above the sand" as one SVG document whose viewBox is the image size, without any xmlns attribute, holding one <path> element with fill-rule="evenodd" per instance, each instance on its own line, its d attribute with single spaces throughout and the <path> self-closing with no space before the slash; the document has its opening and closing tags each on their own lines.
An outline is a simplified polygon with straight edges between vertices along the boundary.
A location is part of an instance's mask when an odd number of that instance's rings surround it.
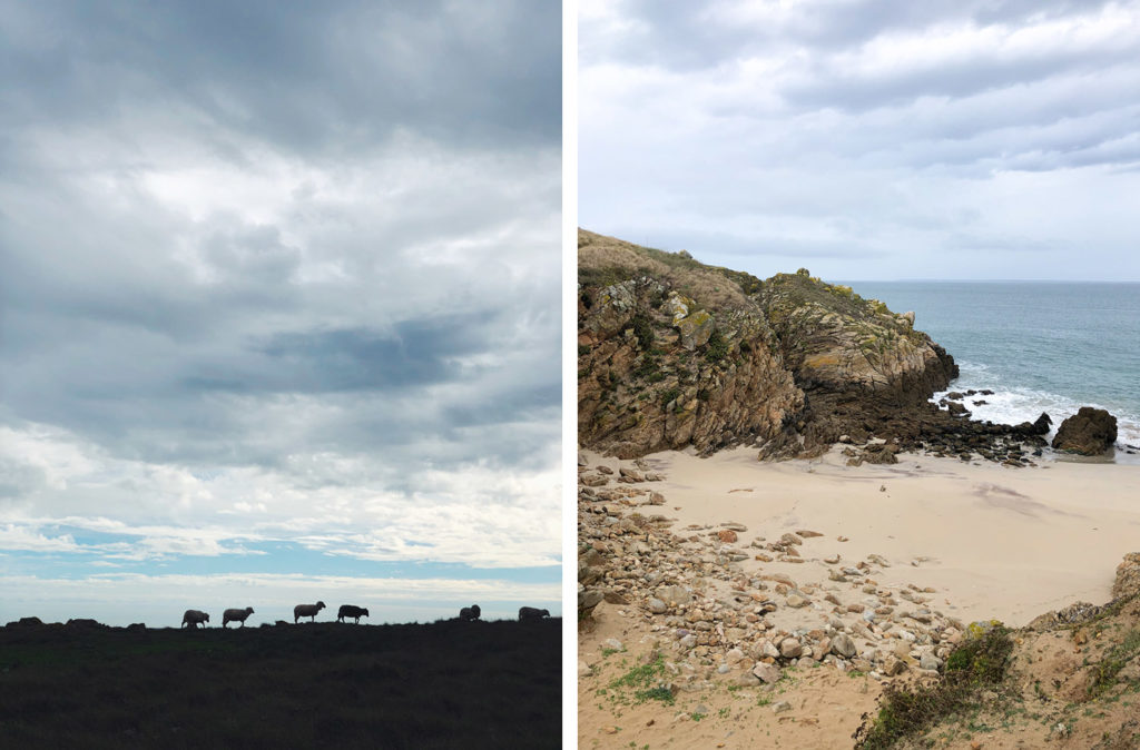
<svg viewBox="0 0 1140 750">
<path fill-rule="evenodd" d="M 804 394 L 747 294 L 759 284 L 580 231 L 580 443 L 622 458 L 687 446 L 711 453 L 742 442 L 771 450 L 793 443 L 787 427 L 803 411 Z"/>
</svg>

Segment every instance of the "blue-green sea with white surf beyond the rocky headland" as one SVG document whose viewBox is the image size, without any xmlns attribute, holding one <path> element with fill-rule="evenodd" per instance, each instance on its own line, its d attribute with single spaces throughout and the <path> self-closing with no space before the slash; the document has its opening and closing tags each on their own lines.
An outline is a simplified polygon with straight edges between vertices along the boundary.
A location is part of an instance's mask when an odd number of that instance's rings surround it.
<svg viewBox="0 0 1140 750">
<path fill-rule="evenodd" d="M 972 418 L 1017 424 L 1048 411 L 1056 431 L 1080 407 L 1094 406 L 1116 416 L 1118 448 L 1140 446 L 1140 284 L 844 284 L 894 312 L 913 310 L 914 327 L 959 365 L 951 390 L 994 391 L 964 401 Z M 1140 463 L 1140 451 L 1117 450 L 1116 460 Z"/>
</svg>

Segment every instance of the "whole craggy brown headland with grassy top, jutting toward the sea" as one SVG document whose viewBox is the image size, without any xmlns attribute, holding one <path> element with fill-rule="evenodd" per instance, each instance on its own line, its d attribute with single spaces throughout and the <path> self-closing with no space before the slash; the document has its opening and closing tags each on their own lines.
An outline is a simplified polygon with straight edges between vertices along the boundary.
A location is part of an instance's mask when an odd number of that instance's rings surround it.
<svg viewBox="0 0 1140 750">
<path fill-rule="evenodd" d="M 918 440 L 922 429 L 901 416 L 950 419 L 927 399 L 958 372 L 913 324 L 804 269 L 760 280 L 579 230 L 579 442 L 632 458 L 741 443 L 811 455 L 842 434 Z"/>
</svg>

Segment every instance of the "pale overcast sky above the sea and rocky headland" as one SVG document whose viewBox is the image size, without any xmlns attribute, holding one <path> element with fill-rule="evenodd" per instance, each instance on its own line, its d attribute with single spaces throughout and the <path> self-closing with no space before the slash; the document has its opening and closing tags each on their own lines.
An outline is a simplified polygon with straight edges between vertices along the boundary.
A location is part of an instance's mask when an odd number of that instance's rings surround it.
<svg viewBox="0 0 1140 750">
<path fill-rule="evenodd" d="M 831 279 L 1140 280 L 1140 2 L 581 0 L 579 225 Z"/>
</svg>

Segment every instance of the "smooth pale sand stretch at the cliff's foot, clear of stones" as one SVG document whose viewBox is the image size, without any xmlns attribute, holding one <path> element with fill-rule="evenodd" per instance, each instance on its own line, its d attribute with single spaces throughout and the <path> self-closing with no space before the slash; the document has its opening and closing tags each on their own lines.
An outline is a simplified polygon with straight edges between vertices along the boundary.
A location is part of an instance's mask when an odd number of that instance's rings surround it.
<svg viewBox="0 0 1140 750">
<path fill-rule="evenodd" d="M 666 451 L 645 460 L 665 474 L 650 486 L 666 498 L 653 509 L 677 519 L 674 532 L 734 521 L 748 527 L 739 545 L 748 549 L 756 537 L 819 531 L 824 536 L 799 547 L 804 557 L 839 553 L 855 564 L 882 555 L 891 568 L 877 580 L 931 586 L 933 604 L 966 621 L 1021 626 L 1074 601 L 1107 602 L 1116 565 L 1140 551 L 1134 465 L 1010 468 L 902 455 L 897 465 L 853 467 L 838 448 L 821 459 L 783 463 L 760 463 L 747 448 L 710 458 Z M 817 577 L 809 572 L 816 565 L 742 564 L 793 579 Z"/>
</svg>

